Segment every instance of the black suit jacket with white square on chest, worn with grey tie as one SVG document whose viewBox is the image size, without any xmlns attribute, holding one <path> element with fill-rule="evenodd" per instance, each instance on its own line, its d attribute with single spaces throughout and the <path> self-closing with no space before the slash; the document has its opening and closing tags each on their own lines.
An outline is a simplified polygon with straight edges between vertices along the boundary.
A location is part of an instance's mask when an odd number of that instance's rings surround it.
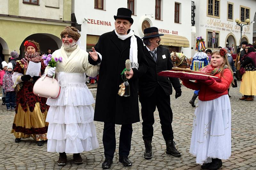
<svg viewBox="0 0 256 170">
<path fill-rule="evenodd" d="M 139 95 L 151 96 L 158 85 L 164 89 L 166 95 L 172 94 L 172 86 L 174 89 L 181 88 L 178 78 L 168 78 L 157 75 L 159 72 L 171 70 L 173 67 L 169 50 L 162 46 L 157 47 L 157 59 L 155 62 L 146 46 L 144 46 L 143 49 L 149 67 L 146 74 L 139 79 Z M 163 57 L 164 55 L 165 58 Z"/>
</svg>

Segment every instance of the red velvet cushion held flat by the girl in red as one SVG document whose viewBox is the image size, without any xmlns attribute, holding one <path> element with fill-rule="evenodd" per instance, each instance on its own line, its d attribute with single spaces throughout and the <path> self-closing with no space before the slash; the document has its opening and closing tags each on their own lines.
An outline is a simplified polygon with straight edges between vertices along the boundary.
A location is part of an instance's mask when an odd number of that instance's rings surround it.
<svg viewBox="0 0 256 170">
<path fill-rule="evenodd" d="M 160 73 L 158 73 L 158 75 L 175 77 L 175 78 L 183 78 L 183 79 L 189 79 L 189 80 L 208 80 L 209 79 L 208 76 L 210 76 L 216 81 L 221 81 L 219 77 L 212 76 L 204 72 L 195 73 L 195 72 L 186 72 L 186 71 L 167 70 L 167 71 L 161 71 Z"/>
</svg>

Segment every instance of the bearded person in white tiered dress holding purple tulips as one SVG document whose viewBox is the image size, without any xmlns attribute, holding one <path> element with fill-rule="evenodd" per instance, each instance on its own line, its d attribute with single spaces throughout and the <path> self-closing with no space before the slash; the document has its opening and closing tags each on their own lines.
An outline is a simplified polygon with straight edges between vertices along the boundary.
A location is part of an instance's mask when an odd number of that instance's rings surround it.
<svg viewBox="0 0 256 170">
<path fill-rule="evenodd" d="M 60 84 L 60 95 L 47 100 L 50 108 L 46 122 L 49 122 L 47 152 L 59 152 L 58 165 L 64 166 L 66 153 L 73 153 L 75 164 L 81 164 L 80 153 L 99 146 L 93 123 L 95 101 L 85 84 L 85 74 L 95 77 L 100 64 L 89 64 L 88 53 L 76 45 L 80 37 L 76 27 L 67 26 L 60 36 L 62 46 L 52 57 L 62 57 L 62 61 L 45 69 L 49 77 L 56 73 Z"/>
</svg>

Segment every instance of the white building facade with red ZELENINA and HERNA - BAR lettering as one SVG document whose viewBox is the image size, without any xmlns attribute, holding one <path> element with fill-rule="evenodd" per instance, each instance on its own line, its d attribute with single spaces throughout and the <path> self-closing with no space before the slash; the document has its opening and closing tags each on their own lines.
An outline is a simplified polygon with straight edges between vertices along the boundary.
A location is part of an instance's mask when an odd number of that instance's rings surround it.
<svg viewBox="0 0 256 170">
<path fill-rule="evenodd" d="M 121 7 L 131 9 L 135 35 L 142 38 L 145 28 L 155 26 L 164 34 L 161 45 L 190 56 L 190 0 L 72 0 L 72 13 L 81 24 L 80 40 L 88 51 L 101 34 L 115 29 L 113 16 Z"/>
</svg>

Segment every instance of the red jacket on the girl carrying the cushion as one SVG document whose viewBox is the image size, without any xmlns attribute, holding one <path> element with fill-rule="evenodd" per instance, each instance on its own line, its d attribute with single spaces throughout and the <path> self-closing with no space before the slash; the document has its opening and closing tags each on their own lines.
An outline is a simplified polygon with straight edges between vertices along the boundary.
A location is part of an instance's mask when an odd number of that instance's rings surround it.
<svg viewBox="0 0 256 170">
<path fill-rule="evenodd" d="M 220 77 L 219 74 L 214 76 Z M 211 85 L 204 84 L 200 81 L 182 81 L 183 85 L 189 89 L 200 90 L 198 93 L 198 99 L 201 101 L 208 101 L 216 99 L 222 95 L 228 94 L 228 88 L 233 81 L 233 75 L 229 69 L 225 69 L 221 81 L 215 81 Z"/>
</svg>

